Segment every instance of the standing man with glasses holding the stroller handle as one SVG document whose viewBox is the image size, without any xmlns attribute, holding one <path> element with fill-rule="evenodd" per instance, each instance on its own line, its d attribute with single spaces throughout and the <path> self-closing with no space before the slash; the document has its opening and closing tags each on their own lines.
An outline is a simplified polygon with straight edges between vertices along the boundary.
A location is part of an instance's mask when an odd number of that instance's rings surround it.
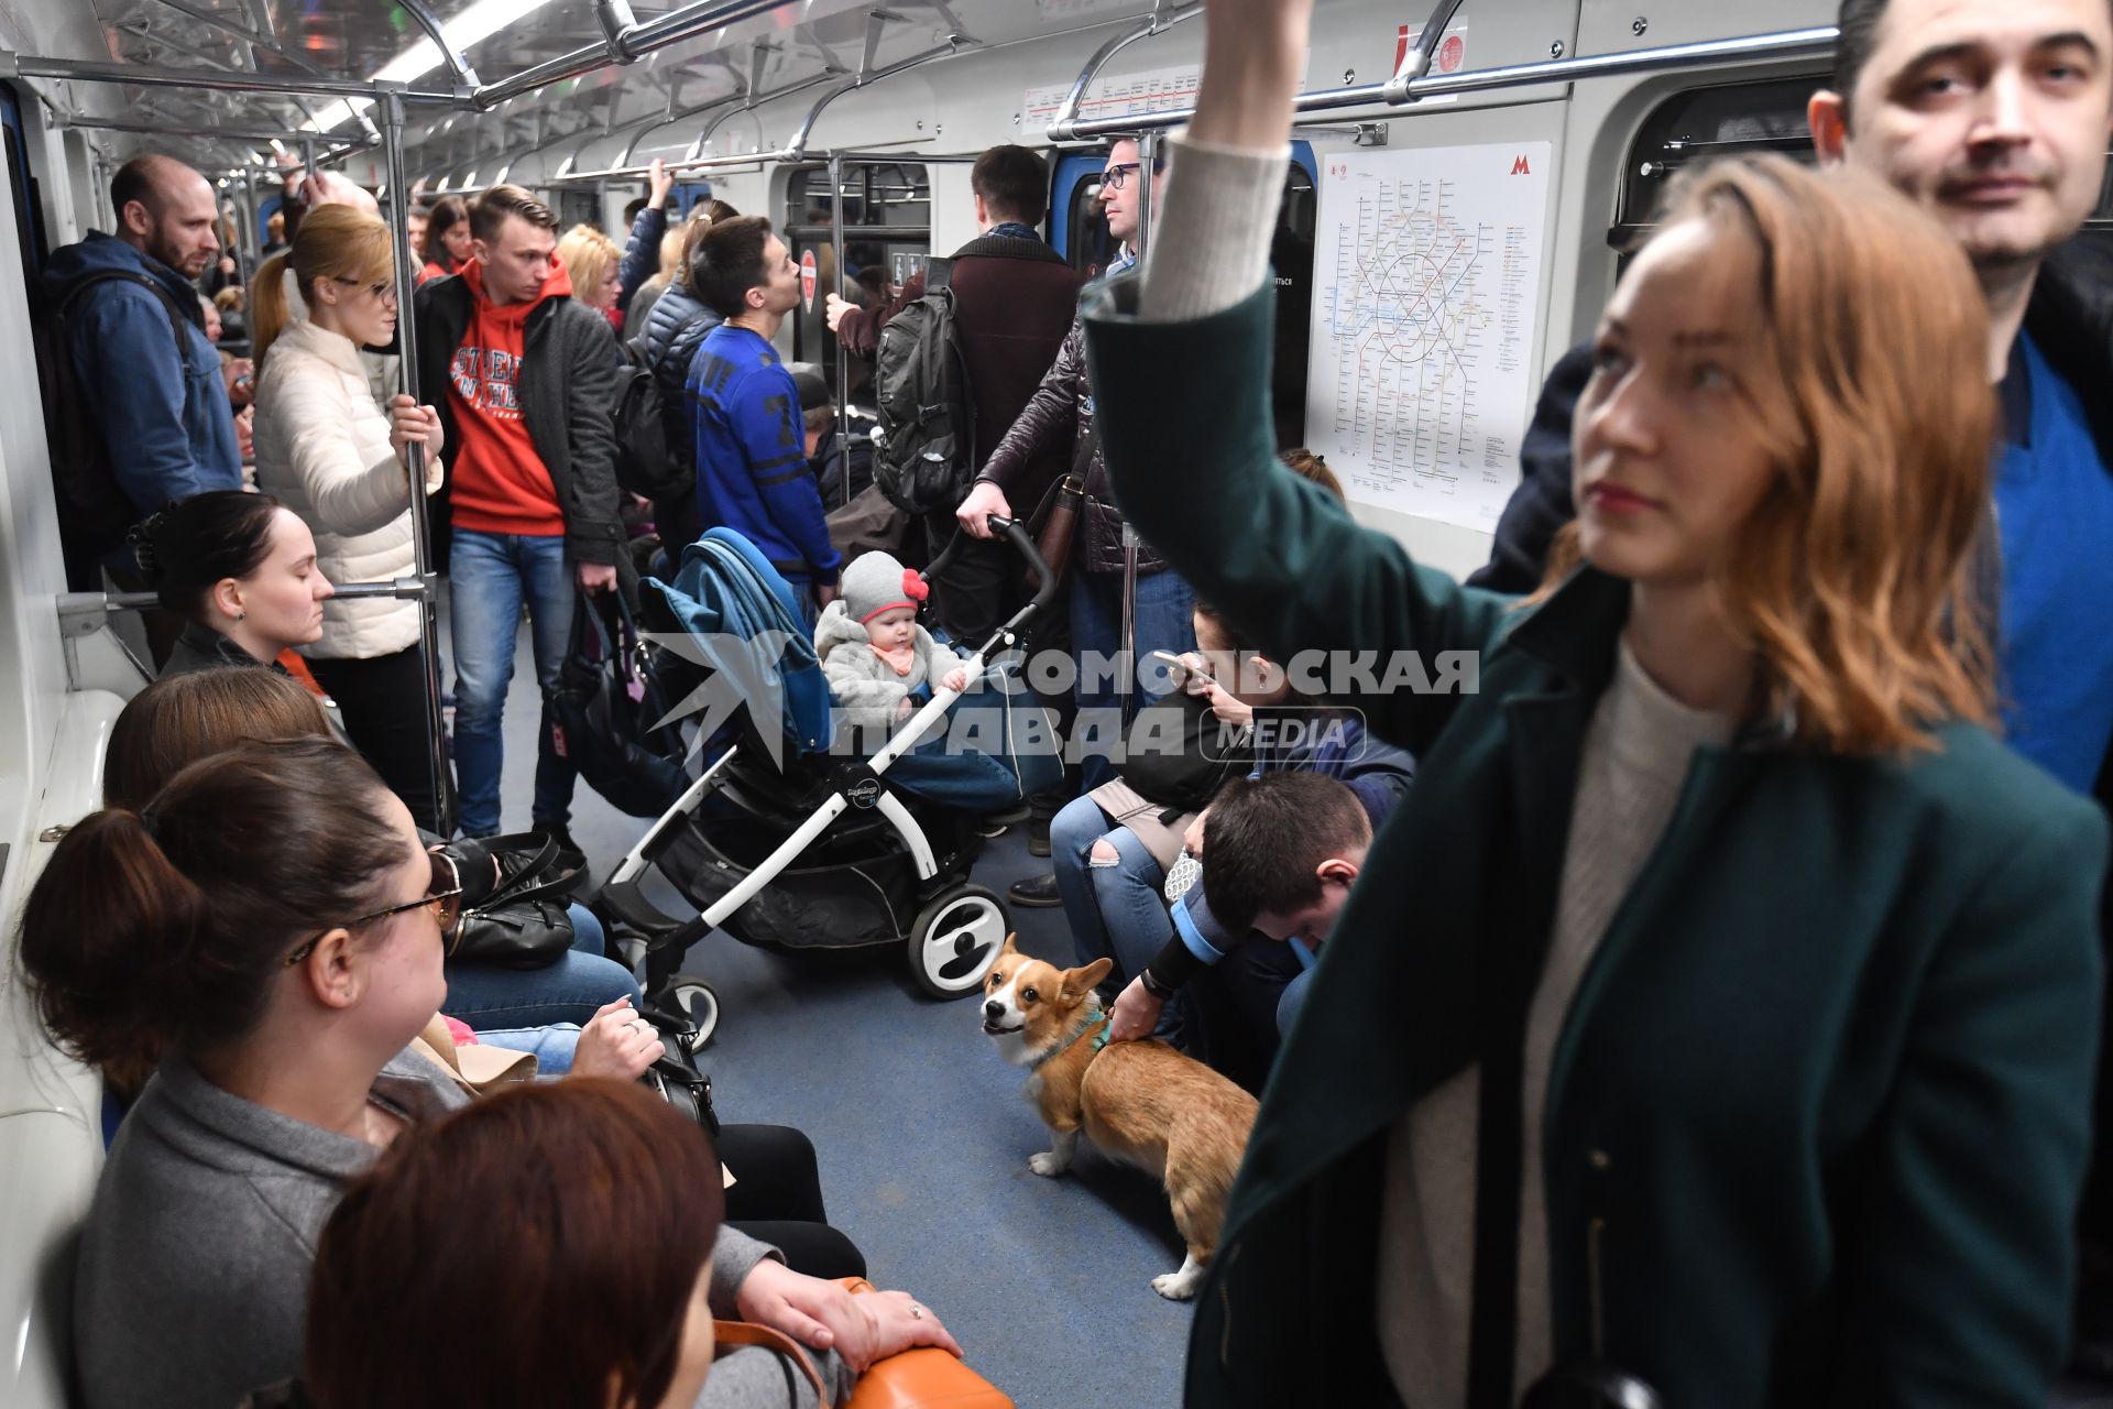
<svg viewBox="0 0 2113 1409">
<path fill-rule="evenodd" d="M 1109 275 L 1137 264 L 1135 241 L 1139 222 L 1139 158 L 1137 144 L 1124 137 L 1107 152 L 1101 169 L 1101 209 L 1107 215 L 1107 232 L 1116 237 L 1122 253 L 1109 264 Z M 1158 194 L 1158 184 L 1154 184 Z M 1120 701 L 1122 689 L 1118 670 L 1130 672 L 1135 663 L 1122 661 L 1122 579 L 1126 526 L 1122 511 L 1107 492 L 1107 473 L 1101 469 L 1101 442 L 1092 429 L 1092 387 L 1086 382 L 1086 334 L 1078 321 L 1056 351 L 1056 363 L 1042 378 L 1042 384 L 1027 399 L 1018 420 L 985 461 L 974 488 L 961 501 L 955 518 L 978 539 L 991 537 L 991 515 L 1016 518 L 1014 507 L 1033 513 L 1035 505 L 1052 488 L 1052 471 L 1042 469 L 1054 450 L 1069 446 L 1071 477 L 1084 492 L 1080 528 L 1071 539 L 1071 558 L 1065 564 L 1050 564 L 1065 572 L 1069 587 L 1065 600 L 1071 613 L 1071 653 L 1078 663 L 1078 687 L 1071 697 L 1078 708 L 1078 722 L 1071 729 L 1073 746 L 1082 758 L 1084 788 L 1097 788 L 1114 777 L 1109 748 L 1122 735 Z M 1158 553 L 1147 543 L 1135 543 L 1137 553 L 1137 615 L 1135 638 L 1137 659 L 1154 651 L 1181 655 L 1196 649 L 1196 627 L 1190 621 L 1194 594 L 1188 583 L 1166 570 Z M 1035 646 L 1050 649 L 1054 642 L 1042 636 Z M 1037 822 L 1029 843 L 1035 851 L 1048 849 L 1046 832 Z M 1012 887 L 1014 904 L 1059 906 L 1056 877 L 1035 877 Z"/>
</svg>

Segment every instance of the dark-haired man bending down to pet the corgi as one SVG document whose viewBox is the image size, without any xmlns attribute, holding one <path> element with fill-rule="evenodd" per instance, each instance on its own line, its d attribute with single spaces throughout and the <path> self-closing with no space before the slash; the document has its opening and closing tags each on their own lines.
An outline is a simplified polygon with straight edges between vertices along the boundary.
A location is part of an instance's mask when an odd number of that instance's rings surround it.
<svg viewBox="0 0 2113 1409">
<path fill-rule="evenodd" d="M 1192 980 L 1209 982 L 1211 967 L 1251 934 L 1287 942 L 1299 974 L 1270 1012 L 1238 1001 L 1209 1006 L 1209 1060 L 1219 1067 L 1228 1048 L 1274 1054 L 1276 1037 L 1291 1031 L 1314 957 L 1365 864 L 1371 818 L 1333 777 L 1264 773 L 1226 784 L 1202 818 L 1200 841 L 1202 875 L 1173 904 L 1175 938 L 1116 999 L 1107 1039 L 1147 1037 L 1166 999 Z"/>
</svg>

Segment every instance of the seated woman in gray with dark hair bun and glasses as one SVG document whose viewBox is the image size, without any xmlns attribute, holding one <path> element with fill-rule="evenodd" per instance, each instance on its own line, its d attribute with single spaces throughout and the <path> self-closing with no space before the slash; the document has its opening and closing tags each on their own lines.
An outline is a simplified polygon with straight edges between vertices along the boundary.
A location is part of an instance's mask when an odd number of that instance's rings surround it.
<svg viewBox="0 0 2113 1409">
<path fill-rule="evenodd" d="M 44 1027 L 97 1065 L 167 1054 L 82 1232 L 89 1409 L 228 1409 L 296 1373 L 317 1236 L 344 1183 L 465 1103 L 406 1052 L 446 991 L 459 896 L 404 803 L 325 739 L 194 763 L 53 851 L 21 932 Z M 811 1346 L 833 1398 L 906 1346 L 957 1350 L 896 1301 L 854 1303 L 735 1229 L 712 1251 L 714 1314 Z M 740 1350 L 699 1403 L 814 1403 L 794 1379 L 773 1352 Z"/>
</svg>

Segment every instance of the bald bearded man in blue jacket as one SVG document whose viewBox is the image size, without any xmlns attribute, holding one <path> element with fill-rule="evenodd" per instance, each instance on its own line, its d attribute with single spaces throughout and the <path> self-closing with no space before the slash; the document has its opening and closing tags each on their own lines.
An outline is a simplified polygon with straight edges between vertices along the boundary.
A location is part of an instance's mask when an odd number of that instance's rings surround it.
<svg viewBox="0 0 2113 1409">
<path fill-rule="evenodd" d="M 116 234 L 91 230 L 55 251 L 44 285 L 91 401 L 82 414 L 146 518 L 171 499 L 243 486 L 235 410 L 192 283 L 220 251 L 218 209 L 211 184 L 169 156 L 118 167 L 110 209 Z"/>
</svg>

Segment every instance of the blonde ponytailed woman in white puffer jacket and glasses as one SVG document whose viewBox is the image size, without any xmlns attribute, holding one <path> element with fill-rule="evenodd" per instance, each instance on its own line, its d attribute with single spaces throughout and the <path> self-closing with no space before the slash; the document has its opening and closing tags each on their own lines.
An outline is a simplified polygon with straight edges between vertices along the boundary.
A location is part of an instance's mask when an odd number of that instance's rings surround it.
<svg viewBox="0 0 2113 1409">
<path fill-rule="evenodd" d="M 294 285 L 294 287 L 287 287 Z M 298 300 L 294 294 L 298 292 Z M 256 281 L 258 488 L 315 534 L 334 583 L 416 570 L 404 446 L 427 446 L 427 492 L 442 484 L 442 429 L 431 406 L 393 397 L 382 410 L 361 346 L 395 336 L 393 237 L 349 205 L 308 211 L 294 245 Z M 425 661 L 414 602 L 330 602 L 323 636 L 300 649 L 344 716 L 344 731 L 418 826 L 437 828 L 425 729 Z"/>
</svg>

